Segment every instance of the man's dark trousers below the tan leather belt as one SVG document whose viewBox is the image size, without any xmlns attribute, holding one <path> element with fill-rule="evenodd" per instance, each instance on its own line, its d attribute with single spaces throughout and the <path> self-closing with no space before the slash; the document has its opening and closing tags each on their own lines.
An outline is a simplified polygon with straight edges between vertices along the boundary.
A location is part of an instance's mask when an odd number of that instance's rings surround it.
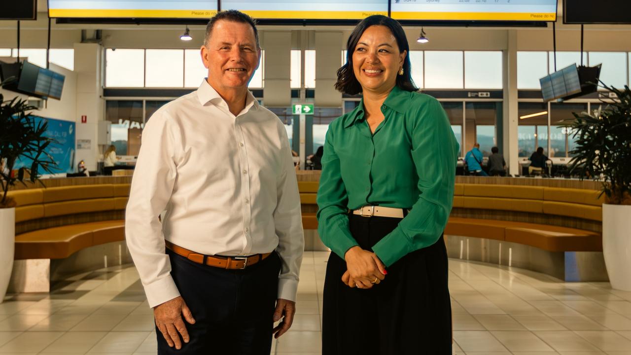
<svg viewBox="0 0 631 355">
<path fill-rule="evenodd" d="M 167 250 L 171 276 L 195 324 L 184 321 L 190 341 L 169 347 L 156 327 L 158 354 L 269 355 L 278 293 L 280 257 L 272 253 L 243 270 L 191 262 Z"/>
</svg>

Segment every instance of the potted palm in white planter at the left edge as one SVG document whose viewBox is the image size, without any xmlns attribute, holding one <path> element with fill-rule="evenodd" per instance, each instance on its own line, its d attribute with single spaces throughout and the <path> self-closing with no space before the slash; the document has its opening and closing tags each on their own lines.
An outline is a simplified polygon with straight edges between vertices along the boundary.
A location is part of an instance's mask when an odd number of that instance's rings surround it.
<svg viewBox="0 0 631 355">
<path fill-rule="evenodd" d="M 36 108 L 17 97 L 5 101 L 0 94 L 0 303 L 11 279 L 15 248 L 16 202 L 8 196 L 9 188 L 27 179 L 35 183 L 40 171 L 52 172 L 56 166 L 45 151 L 54 140 L 45 136 L 47 122 L 33 116 Z M 28 166 L 18 167 L 25 162 Z"/>
</svg>

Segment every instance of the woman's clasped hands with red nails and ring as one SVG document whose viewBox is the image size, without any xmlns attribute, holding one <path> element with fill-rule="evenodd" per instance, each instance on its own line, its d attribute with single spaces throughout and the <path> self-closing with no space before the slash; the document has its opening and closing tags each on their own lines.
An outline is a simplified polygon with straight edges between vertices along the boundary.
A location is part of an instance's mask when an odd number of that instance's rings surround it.
<svg viewBox="0 0 631 355">
<path fill-rule="evenodd" d="M 375 253 L 353 246 L 346 251 L 344 258 L 346 272 L 342 275 L 342 282 L 348 287 L 370 289 L 386 278 L 386 266 Z"/>
</svg>

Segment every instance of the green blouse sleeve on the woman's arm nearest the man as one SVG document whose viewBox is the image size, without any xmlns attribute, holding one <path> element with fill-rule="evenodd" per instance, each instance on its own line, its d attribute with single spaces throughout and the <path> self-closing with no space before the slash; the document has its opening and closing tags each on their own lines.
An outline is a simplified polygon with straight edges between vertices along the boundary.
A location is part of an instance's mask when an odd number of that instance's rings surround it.
<svg viewBox="0 0 631 355">
<path fill-rule="evenodd" d="M 324 141 L 322 174 L 317 191 L 317 230 L 322 243 L 344 258 L 346 251 L 358 243 L 348 227 L 348 195 L 334 148 L 333 131 L 333 126 L 330 126 Z"/>
</svg>

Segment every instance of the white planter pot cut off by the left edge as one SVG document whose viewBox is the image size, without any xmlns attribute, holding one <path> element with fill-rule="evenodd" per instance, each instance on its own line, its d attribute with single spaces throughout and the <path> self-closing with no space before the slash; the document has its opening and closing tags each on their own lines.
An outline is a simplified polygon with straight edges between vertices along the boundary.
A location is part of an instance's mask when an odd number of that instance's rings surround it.
<svg viewBox="0 0 631 355">
<path fill-rule="evenodd" d="M 13 270 L 15 208 L 0 208 L 0 303 L 4 300 Z"/>
</svg>

